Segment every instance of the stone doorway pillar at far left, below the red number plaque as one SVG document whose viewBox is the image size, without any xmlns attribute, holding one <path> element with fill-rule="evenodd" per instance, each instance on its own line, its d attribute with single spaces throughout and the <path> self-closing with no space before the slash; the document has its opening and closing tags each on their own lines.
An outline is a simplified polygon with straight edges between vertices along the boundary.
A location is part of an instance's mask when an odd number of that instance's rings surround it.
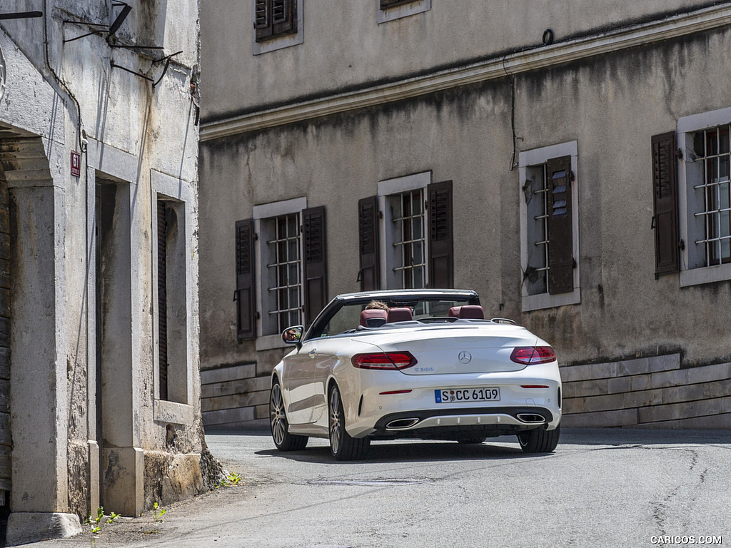
<svg viewBox="0 0 731 548">
<path fill-rule="evenodd" d="M 16 149 L 15 161 L 6 161 L 8 148 Z M 10 290 L 12 514 L 7 529 L 7 544 L 13 545 L 81 529 L 78 517 L 68 513 L 64 191 L 53 184 L 40 139 L 6 142 L 2 152 L 15 244 Z M 24 162 L 35 169 L 23 169 Z"/>
</svg>

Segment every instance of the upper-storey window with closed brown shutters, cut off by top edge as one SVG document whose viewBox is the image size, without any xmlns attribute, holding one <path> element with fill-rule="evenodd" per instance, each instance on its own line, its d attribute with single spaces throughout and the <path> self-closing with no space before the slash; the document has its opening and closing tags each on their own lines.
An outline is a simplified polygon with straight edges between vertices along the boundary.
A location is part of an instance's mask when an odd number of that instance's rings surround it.
<svg viewBox="0 0 731 548">
<path fill-rule="evenodd" d="M 303 42 L 303 0 L 254 0 L 254 55 Z"/>
</svg>

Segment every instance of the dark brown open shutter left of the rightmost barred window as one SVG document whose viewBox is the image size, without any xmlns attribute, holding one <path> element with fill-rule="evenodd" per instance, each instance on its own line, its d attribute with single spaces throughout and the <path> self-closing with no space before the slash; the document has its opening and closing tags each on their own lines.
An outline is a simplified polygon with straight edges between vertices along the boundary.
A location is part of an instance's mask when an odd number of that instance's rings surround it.
<svg viewBox="0 0 731 548">
<path fill-rule="evenodd" d="M 675 132 L 652 137 L 655 273 L 678 272 L 678 172 L 675 169 Z"/>
</svg>

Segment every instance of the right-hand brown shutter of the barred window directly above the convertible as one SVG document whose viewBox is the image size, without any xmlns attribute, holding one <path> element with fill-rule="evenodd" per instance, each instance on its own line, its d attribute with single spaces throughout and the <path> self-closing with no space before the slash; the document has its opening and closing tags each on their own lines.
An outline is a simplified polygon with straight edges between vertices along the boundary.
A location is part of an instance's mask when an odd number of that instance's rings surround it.
<svg viewBox="0 0 731 548">
<path fill-rule="evenodd" d="M 452 181 L 427 187 L 429 204 L 429 286 L 454 286 Z"/>
</svg>

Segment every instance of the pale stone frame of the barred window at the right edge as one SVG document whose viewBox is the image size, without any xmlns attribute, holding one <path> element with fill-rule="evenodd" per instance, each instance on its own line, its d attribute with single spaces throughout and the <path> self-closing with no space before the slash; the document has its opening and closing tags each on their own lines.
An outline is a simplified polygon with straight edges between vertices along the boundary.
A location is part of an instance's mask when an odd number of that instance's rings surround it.
<svg viewBox="0 0 731 548">
<path fill-rule="evenodd" d="M 684 245 L 681 246 L 681 287 L 695 286 L 702 283 L 714 283 L 731 279 L 731 262 L 721 265 L 695 266 L 705 257 L 705 251 L 699 252 L 695 241 L 705 239 L 705 230 L 701 237 L 697 237 L 697 229 L 693 228 L 694 213 L 690 195 L 694 191 L 692 172 L 694 168 L 694 153 L 689 142 L 693 135 L 708 129 L 731 124 L 731 107 L 711 110 L 706 113 L 694 114 L 678 118 L 677 143 L 682 152 L 681 165 L 678 169 L 678 212 L 680 237 Z M 705 181 L 704 181 L 705 183 Z M 705 246 L 702 246 L 705 247 Z M 693 266 L 691 266 L 693 265 Z"/>
</svg>

